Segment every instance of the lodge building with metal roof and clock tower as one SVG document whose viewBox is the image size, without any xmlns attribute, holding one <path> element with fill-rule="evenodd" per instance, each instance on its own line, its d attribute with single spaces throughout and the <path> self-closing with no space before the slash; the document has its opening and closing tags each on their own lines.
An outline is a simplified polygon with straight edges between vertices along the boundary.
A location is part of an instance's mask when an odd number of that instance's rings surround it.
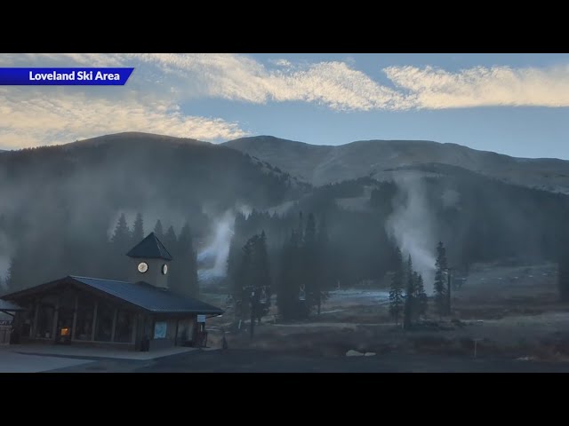
<svg viewBox="0 0 569 426">
<path fill-rule="evenodd" d="M 71 343 L 152 351 L 204 346 L 205 318 L 222 311 L 168 288 L 172 256 L 150 233 L 127 255 L 129 281 L 67 276 L 2 296 L 20 306 L 20 343 Z M 175 264 L 173 265 L 175 267 Z"/>
</svg>

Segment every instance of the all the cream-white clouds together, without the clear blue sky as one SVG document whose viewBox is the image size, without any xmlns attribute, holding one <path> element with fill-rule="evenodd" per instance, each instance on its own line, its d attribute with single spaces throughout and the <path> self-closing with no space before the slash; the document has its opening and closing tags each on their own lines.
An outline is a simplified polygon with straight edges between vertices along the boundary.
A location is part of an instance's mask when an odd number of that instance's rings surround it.
<svg viewBox="0 0 569 426">
<path fill-rule="evenodd" d="M 135 67 L 120 88 L 2 88 L 0 147 L 63 143 L 127 130 L 213 141 L 244 136 L 236 122 L 183 114 L 183 102 L 203 98 L 307 102 L 339 111 L 569 106 L 569 66 L 458 72 L 388 67 L 383 70 L 386 83 L 379 83 L 349 60 L 274 59 L 264 65 L 236 54 L 0 54 L 0 65 Z"/>
</svg>

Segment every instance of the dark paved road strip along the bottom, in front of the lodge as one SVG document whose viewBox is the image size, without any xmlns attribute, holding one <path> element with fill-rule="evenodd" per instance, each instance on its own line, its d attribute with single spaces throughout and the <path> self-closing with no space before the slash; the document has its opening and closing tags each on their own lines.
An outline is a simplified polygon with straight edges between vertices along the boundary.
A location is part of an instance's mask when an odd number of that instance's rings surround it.
<svg viewBox="0 0 569 426">
<path fill-rule="evenodd" d="M 509 359 L 461 359 L 388 354 L 375 357 L 317 358 L 264 351 L 195 351 L 151 361 L 102 360 L 57 372 L 137 373 L 554 373 L 569 363 Z"/>
</svg>

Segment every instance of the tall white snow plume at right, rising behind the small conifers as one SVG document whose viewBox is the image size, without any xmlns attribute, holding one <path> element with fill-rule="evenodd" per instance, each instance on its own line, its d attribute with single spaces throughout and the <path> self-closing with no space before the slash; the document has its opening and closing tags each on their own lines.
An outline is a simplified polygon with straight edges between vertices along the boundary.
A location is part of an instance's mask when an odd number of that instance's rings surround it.
<svg viewBox="0 0 569 426">
<path fill-rule="evenodd" d="M 386 222 L 386 231 L 403 252 L 404 261 L 411 255 L 413 269 L 421 273 L 428 294 L 435 278 L 435 219 L 429 209 L 420 176 L 407 175 L 395 179 L 398 192 L 393 212 Z"/>
</svg>

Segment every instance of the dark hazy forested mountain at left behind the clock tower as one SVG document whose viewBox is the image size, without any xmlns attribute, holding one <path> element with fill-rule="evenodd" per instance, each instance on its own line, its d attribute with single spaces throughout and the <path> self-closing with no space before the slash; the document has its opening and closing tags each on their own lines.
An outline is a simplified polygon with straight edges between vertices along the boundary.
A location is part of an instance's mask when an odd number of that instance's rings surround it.
<svg viewBox="0 0 569 426">
<path fill-rule="evenodd" d="M 0 218 L 19 241 L 63 222 L 112 231 L 120 211 L 177 228 L 188 219 L 205 233 L 204 211 L 262 208 L 295 191 L 294 179 L 272 166 L 195 139 L 120 133 L 0 155 Z"/>
</svg>

